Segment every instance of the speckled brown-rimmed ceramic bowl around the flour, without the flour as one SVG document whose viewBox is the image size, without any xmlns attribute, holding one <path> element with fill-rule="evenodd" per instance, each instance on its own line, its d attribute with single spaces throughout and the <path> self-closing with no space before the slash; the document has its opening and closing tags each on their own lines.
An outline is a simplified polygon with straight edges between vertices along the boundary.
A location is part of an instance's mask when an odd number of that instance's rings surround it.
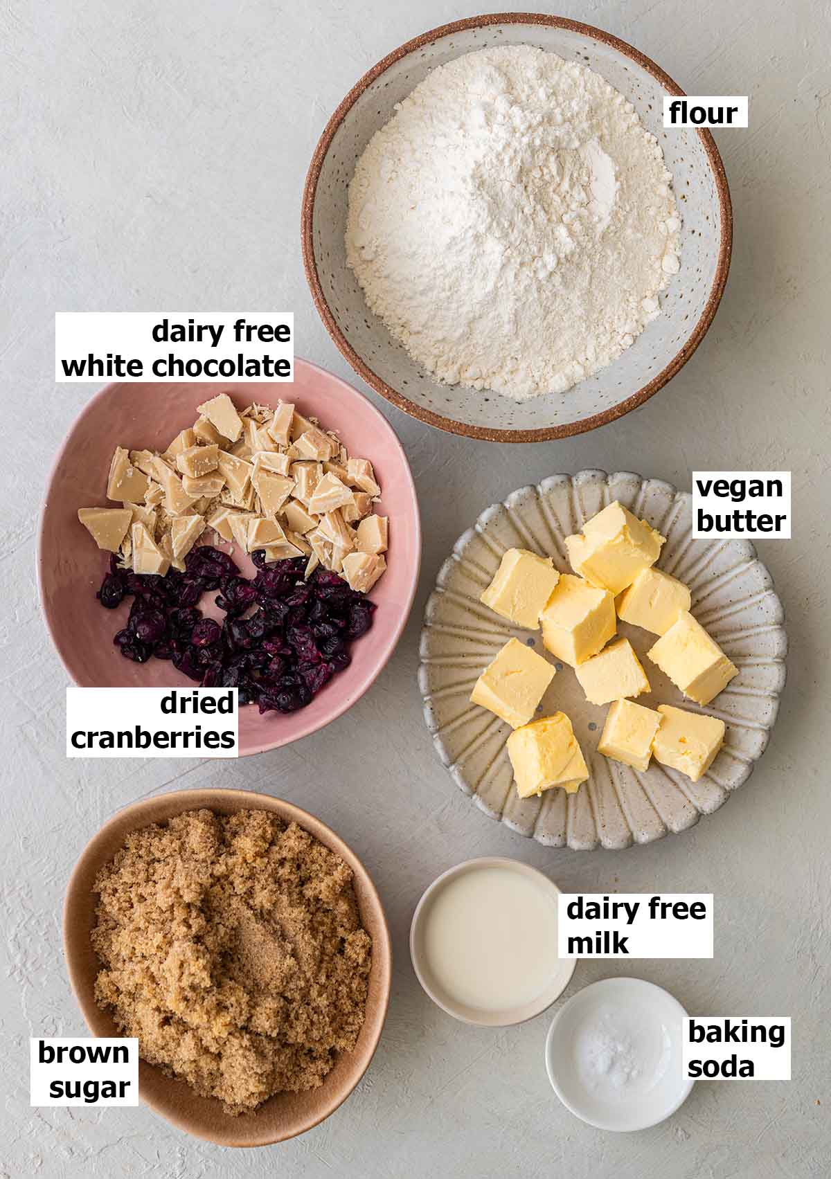
<svg viewBox="0 0 831 1179">
<path fill-rule="evenodd" d="M 681 211 L 681 270 L 664 314 L 611 365 L 565 394 L 514 402 L 440 384 L 369 311 L 347 265 L 347 187 L 364 147 L 435 66 L 494 45 L 534 45 L 591 66 L 632 101 L 664 150 Z M 495 442 L 539 442 L 602 426 L 642 404 L 701 342 L 721 298 L 732 243 L 724 166 L 708 131 L 665 131 L 661 99 L 680 87 L 625 41 L 560 17 L 496 13 L 431 29 L 394 50 L 327 124 L 303 195 L 303 258 L 329 334 L 352 368 L 400 409 L 441 429 Z"/>
</svg>

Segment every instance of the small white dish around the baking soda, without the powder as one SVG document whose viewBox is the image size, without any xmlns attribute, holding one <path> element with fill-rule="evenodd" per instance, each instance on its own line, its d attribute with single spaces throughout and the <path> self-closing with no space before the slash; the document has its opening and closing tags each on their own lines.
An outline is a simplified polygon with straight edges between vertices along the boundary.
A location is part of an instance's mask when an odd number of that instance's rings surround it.
<svg viewBox="0 0 831 1179">
<path fill-rule="evenodd" d="M 592 1088 L 576 1050 L 578 1038 L 608 1012 L 619 1020 L 638 1019 L 645 1040 L 655 1049 L 660 1045 L 661 1050 L 653 1082 L 634 1085 L 628 1093 L 620 1086 L 622 1095 L 614 1100 L 600 1092 L 600 1086 Z M 546 1071 L 554 1092 L 567 1109 L 598 1129 L 657 1126 L 680 1108 L 693 1087 L 681 1069 L 686 1014 L 667 990 L 642 979 L 602 979 L 583 987 L 556 1013 L 546 1040 Z"/>
</svg>

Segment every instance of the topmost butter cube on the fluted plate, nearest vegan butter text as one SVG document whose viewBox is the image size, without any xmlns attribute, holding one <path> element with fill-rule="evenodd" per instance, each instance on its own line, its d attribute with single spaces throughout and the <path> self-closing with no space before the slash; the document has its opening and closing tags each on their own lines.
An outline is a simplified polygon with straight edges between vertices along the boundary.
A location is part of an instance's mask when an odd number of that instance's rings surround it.
<svg viewBox="0 0 831 1179">
<path fill-rule="evenodd" d="M 665 538 L 646 520 L 632 515 L 615 500 L 566 536 L 566 551 L 575 573 L 600 590 L 619 594 L 641 569 L 654 565 Z"/>
</svg>

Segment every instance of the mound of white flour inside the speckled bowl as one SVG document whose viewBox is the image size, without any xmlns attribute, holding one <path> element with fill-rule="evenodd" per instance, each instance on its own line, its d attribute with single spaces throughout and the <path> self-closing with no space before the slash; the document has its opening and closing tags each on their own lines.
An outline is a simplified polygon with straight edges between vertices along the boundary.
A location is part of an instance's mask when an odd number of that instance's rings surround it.
<svg viewBox="0 0 831 1179">
<path fill-rule="evenodd" d="M 347 258 L 448 384 L 563 393 L 660 314 L 680 228 L 658 140 L 600 74 L 530 46 L 438 66 L 363 152 Z"/>
</svg>

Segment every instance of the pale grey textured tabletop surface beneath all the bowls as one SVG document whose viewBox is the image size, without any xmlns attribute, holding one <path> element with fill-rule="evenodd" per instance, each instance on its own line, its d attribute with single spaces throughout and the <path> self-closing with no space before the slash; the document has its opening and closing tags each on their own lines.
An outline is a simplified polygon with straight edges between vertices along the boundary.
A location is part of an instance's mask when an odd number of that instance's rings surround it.
<svg viewBox="0 0 831 1179">
<path fill-rule="evenodd" d="M 84 764 L 62 755 L 66 680 L 34 581 L 46 472 L 93 391 L 52 383 L 53 312 L 294 308 L 298 354 L 351 380 L 303 278 L 305 167 L 364 70 L 469 12 L 443 0 L 0 2 L 2 1179 L 831 1174 L 829 5 L 586 0 L 560 11 L 632 41 L 688 92 L 751 97 L 750 130 L 718 137 L 736 252 L 698 355 L 644 408 L 567 442 L 492 448 L 382 406 L 413 463 L 426 544 L 409 628 L 374 690 L 319 736 L 237 764 Z M 547 851 L 473 809 L 434 756 L 415 683 L 421 608 L 456 535 L 514 487 L 581 467 L 679 487 L 697 467 L 793 469 L 794 539 L 761 546 L 791 638 L 771 746 L 715 816 L 618 854 Z M 375 875 L 397 964 L 367 1078 L 322 1126 L 253 1153 L 191 1140 L 144 1108 L 31 1109 L 27 1038 L 84 1032 L 60 948 L 77 852 L 124 803 L 211 784 L 298 802 Z M 504 1032 L 463 1027 L 410 969 L 405 934 L 422 889 L 493 852 L 543 868 L 567 890 L 713 891 L 713 961 L 632 973 L 693 1013 L 791 1015 L 793 1081 L 699 1084 L 672 1120 L 629 1137 L 572 1118 L 543 1069 L 547 1017 Z M 579 964 L 572 989 L 614 971 Z"/>
</svg>

